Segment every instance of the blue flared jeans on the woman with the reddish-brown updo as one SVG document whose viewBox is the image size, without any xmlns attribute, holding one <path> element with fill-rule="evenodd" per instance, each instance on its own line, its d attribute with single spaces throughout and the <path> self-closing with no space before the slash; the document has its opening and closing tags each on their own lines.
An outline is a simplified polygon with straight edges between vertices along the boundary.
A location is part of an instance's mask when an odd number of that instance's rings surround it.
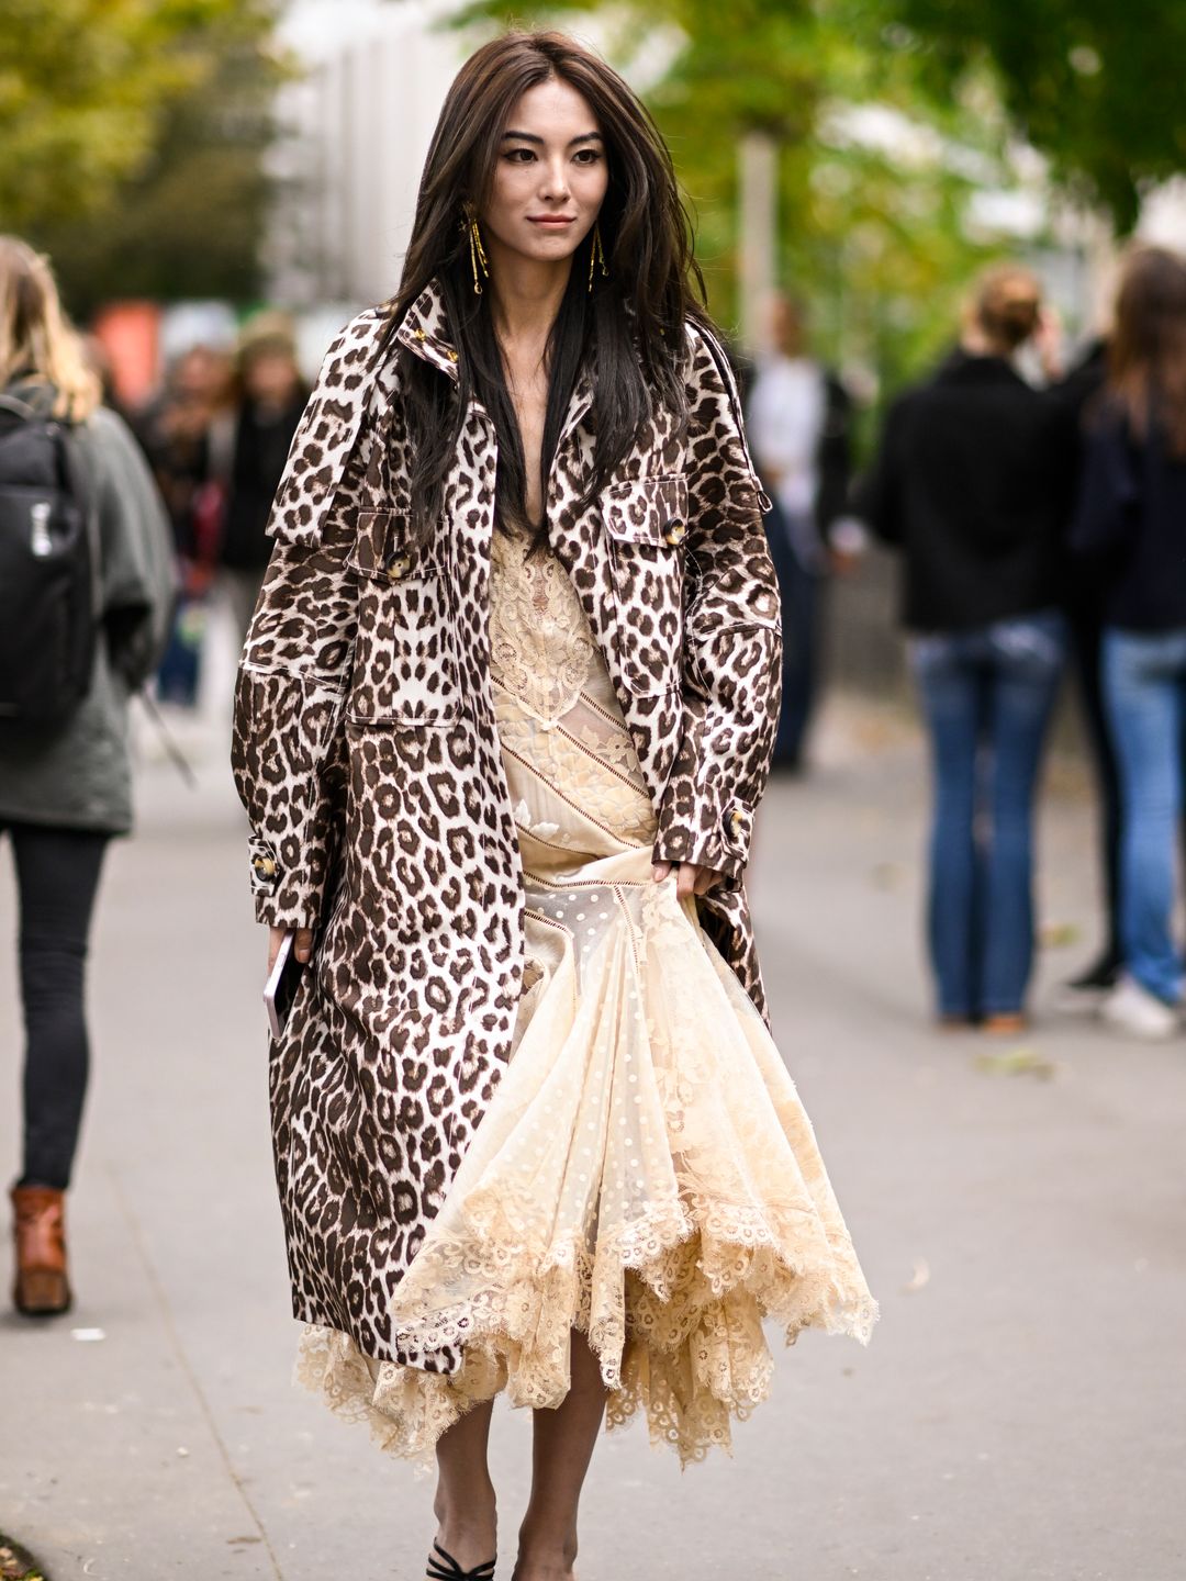
<svg viewBox="0 0 1186 1581">
<path fill-rule="evenodd" d="M 935 781 L 927 936 L 941 1015 L 1023 1009 L 1034 789 L 1064 655 L 1053 610 L 912 645 Z"/>
</svg>

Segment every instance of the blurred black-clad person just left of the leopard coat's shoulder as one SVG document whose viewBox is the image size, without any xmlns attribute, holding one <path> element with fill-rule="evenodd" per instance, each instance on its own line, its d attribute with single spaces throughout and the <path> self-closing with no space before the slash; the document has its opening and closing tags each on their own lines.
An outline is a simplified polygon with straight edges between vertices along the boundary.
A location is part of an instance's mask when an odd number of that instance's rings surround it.
<svg viewBox="0 0 1186 1581">
<path fill-rule="evenodd" d="M 240 645 L 272 550 L 264 531 L 267 517 L 307 400 L 308 386 L 297 365 L 291 321 L 281 313 L 261 313 L 247 326 L 239 345 L 237 406 L 218 553 Z"/>
</svg>

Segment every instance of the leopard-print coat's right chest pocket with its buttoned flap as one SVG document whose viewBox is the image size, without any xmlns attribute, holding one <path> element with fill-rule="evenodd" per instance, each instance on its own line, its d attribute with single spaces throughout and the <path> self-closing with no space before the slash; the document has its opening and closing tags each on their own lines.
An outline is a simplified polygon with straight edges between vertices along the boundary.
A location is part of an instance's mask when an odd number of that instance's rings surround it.
<svg viewBox="0 0 1186 1581">
<path fill-rule="evenodd" d="M 601 500 L 617 604 L 621 675 L 631 691 L 680 685 L 686 477 L 639 477 Z"/>
</svg>

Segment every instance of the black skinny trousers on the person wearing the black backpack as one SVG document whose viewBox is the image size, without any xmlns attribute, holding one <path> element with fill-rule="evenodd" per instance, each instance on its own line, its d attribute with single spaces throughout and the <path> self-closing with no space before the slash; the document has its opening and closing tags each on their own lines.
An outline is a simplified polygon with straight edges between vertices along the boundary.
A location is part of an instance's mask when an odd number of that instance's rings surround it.
<svg viewBox="0 0 1186 1581">
<path fill-rule="evenodd" d="M 111 836 L 36 824 L 8 824 L 6 830 L 16 857 L 25 1017 L 19 1184 L 65 1190 L 90 1066 L 82 1001 L 87 939 Z"/>
</svg>

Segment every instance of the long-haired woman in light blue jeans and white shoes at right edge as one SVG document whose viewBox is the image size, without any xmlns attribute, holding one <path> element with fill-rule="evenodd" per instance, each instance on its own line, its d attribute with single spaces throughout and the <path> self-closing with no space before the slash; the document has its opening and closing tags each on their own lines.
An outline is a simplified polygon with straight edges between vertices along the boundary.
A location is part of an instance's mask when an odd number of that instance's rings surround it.
<svg viewBox="0 0 1186 1581">
<path fill-rule="evenodd" d="M 1186 732 L 1186 262 L 1162 248 L 1134 251 L 1124 269 L 1072 545 L 1105 590 L 1101 672 L 1121 786 L 1126 974 L 1102 1013 L 1169 1037 L 1183 993 L 1172 911 Z"/>
</svg>

